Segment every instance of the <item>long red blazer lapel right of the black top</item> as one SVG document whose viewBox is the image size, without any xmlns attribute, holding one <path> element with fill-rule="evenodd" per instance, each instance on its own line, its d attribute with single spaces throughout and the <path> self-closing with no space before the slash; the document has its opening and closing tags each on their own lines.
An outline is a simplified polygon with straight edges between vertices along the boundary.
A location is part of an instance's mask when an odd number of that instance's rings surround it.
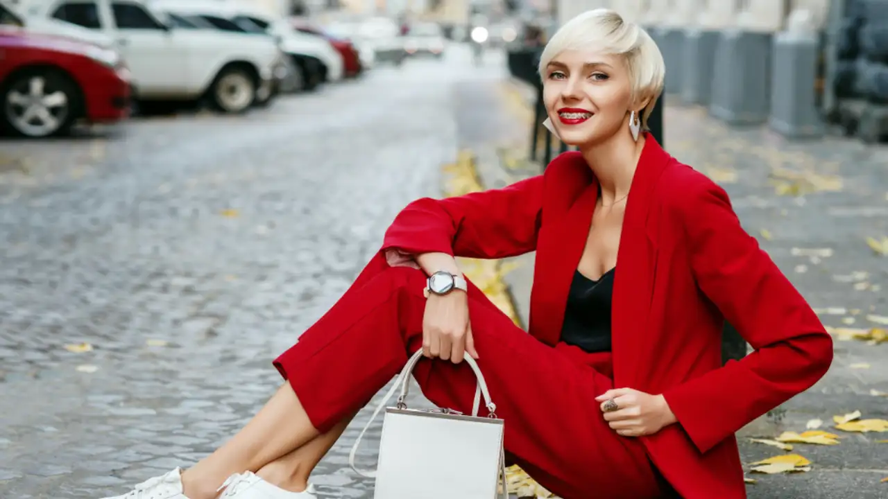
<svg viewBox="0 0 888 499">
<path fill-rule="evenodd" d="M 654 350 L 654 335 L 659 330 L 648 323 L 654 280 L 657 271 L 657 224 L 652 217 L 659 208 L 654 199 L 656 186 L 669 161 L 669 154 L 646 133 L 646 144 L 632 178 L 626 213 L 622 222 L 620 249 L 614 273 L 614 298 L 611 311 L 614 386 L 643 389 L 642 373 L 650 360 L 645 352 Z M 663 262 L 662 265 L 668 265 Z M 646 348 L 647 346 L 647 348 Z"/>
</svg>

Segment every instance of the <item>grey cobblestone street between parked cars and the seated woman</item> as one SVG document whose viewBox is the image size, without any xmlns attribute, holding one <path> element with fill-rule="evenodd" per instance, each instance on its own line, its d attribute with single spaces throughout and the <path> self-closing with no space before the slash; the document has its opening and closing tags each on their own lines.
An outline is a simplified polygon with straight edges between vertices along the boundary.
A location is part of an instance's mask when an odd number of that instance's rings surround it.
<svg viewBox="0 0 888 499">
<path fill-rule="evenodd" d="M 438 193 L 453 85 L 486 77 L 469 60 L 380 67 L 242 117 L 4 140 L 0 497 L 119 493 L 246 423 L 281 382 L 274 356 L 397 210 Z M 321 496 L 369 496 L 346 457 L 367 416 L 313 476 Z"/>
</svg>

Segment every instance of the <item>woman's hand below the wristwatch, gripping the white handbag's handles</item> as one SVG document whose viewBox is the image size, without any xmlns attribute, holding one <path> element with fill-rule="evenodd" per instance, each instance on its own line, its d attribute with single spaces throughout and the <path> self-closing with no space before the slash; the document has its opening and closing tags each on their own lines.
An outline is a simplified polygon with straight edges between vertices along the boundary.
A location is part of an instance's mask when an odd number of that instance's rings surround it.
<svg viewBox="0 0 888 499">
<path fill-rule="evenodd" d="M 446 295 L 430 294 L 423 315 L 423 355 L 458 364 L 465 352 L 478 359 L 469 323 L 468 294 L 460 289 Z"/>
</svg>

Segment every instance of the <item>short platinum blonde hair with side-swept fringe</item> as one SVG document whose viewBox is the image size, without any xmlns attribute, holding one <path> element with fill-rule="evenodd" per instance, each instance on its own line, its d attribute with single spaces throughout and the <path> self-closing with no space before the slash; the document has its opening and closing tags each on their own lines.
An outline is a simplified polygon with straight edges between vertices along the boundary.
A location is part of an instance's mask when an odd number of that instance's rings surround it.
<svg viewBox="0 0 888 499">
<path fill-rule="evenodd" d="M 641 113 L 642 126 L 663 91 L 666 65 L 659 47 L 647 32 L 634 22 L 627 22 L 610 9 L 583 12 L 559 28 L 543 49 L 539 72 L 544 74 L 552 59 L 562 51 L 596 50 L 626 58 L 632 80 L 632 99 L 649 99 Z"/>
</svg>

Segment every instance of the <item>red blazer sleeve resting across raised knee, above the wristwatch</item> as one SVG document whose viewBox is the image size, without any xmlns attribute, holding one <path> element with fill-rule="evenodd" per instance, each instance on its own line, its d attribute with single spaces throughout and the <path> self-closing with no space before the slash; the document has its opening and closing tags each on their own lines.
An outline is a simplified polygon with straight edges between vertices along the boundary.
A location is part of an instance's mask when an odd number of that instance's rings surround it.
<svg viewBox="0 0 888 499">
<path fill-rule="evenodd" d="M 500 189 L 441 200 L 419 199 L 395 217 L 385 232 L 383 250 L 513 257 L 536 248 L 542 210 L 543 175 Z"/>
</svg>

